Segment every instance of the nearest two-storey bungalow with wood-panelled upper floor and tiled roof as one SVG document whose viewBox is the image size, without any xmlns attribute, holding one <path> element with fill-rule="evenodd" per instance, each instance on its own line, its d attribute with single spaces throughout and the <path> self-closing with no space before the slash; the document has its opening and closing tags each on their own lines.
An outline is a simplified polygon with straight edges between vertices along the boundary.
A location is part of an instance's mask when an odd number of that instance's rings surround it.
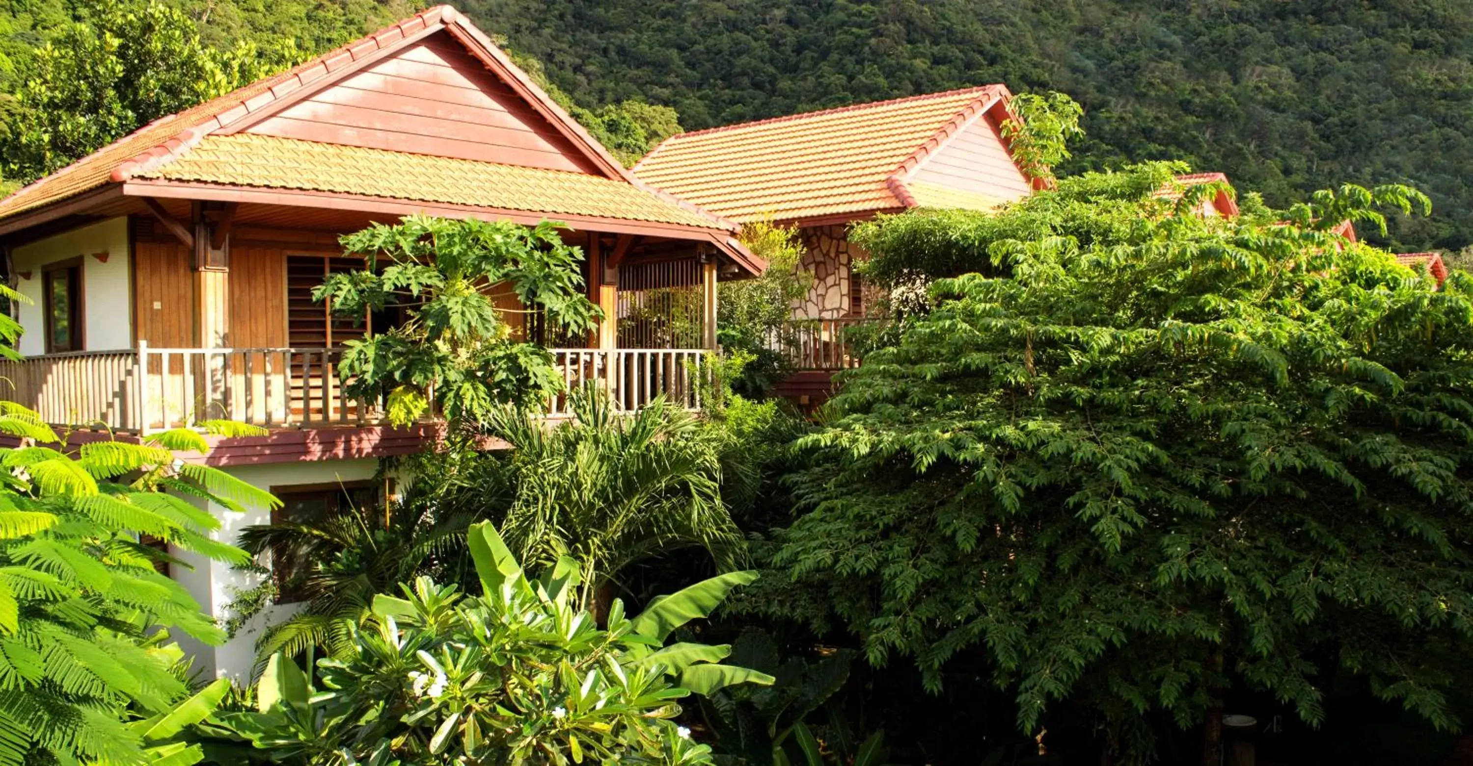
<svg viewBox="0 0 1473 766">
<path fill-rule="evenodd" d="M 0 201 L 6 276 L 31 298 L 18 307 L 27 359 L 0 365 L 15 384 L 3 398 L 121 438 L 205 418 L 264 425 L 268 437 L 194 459 L 277 493 L 287 516 L 364 501 L 384 490 L 370 484 L 377 457 L 418 451 L 440 426 L 387 428 L 374 403 L 343 395 L 343 341 L 389 319 L 340 321 L 311 291 L 361 268 L 342 234 L 408 213 L 570 226 L 605 321 L 554 356 L 572 385 L 601 381 L 625 407 L 657 394 L 695 406 L 716 282 L 764 268 L 734 222 L 633 178 L 440 6 L 158 119 Z M 647 301 L 669 291 L 689 300 Z M 498 301 L 524 337 L 554 343 L 521 322 L 514 296 Z M 268 520 L 211 510 L 225 537 Z M 193 563 L 180 578 L 212 615 L 231 585 L 250 585 Z M 200 659 L 247 672 L 250 640 Z"/>
</svg>

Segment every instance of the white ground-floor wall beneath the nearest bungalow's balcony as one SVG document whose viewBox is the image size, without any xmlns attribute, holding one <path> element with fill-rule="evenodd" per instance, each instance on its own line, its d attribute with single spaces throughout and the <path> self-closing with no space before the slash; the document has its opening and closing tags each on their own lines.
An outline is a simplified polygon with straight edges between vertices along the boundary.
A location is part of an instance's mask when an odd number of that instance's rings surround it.
<svg viewBox="0 0 1473 766">
<path fill-rule="evenodd" d="M 271 463 L 264 466 L 228 468 L 231 475 L 250 482 L 262 490 L 284 488 L 293 485 L 321 485 L 336 482 L 355 482 L 371 479 L 379 468 L 373 457 L 361 460 L 321 460 L 303 463 Z M 219 531 L 214 538 L 221 543 L 236 543 L 240 531 L 256 523 L 271 523 L 268 509 L 246 509 L 237 513 L 221 506 L 211 506 L 211 513 L 219 519 Z M 174 556 L 190 563 L 189 570 L 175 566 L 172 576 L 184 590 L 194 597 L 206 613 L 224 622 L 230 619 L 230 603 L 237 591 L 255 588 L 261 584 L 261 576 L 239 572 L 228 565 L 203 559 L 202 556 L 172 550 Z M 250 665 L 256 656 L 256 638 L 261 631 L 274 622 L 280 622 L 298 609 L 295 604 L 270 606 L 252 618 L 249 623 L 234 637 L 217 647 L 208 647 L 189 637 L 175 637 L 181 647 L 194 657 L 194 669 L 206 678 L 233 678 L 242 684 L 249 681 Z"/>
</svg>

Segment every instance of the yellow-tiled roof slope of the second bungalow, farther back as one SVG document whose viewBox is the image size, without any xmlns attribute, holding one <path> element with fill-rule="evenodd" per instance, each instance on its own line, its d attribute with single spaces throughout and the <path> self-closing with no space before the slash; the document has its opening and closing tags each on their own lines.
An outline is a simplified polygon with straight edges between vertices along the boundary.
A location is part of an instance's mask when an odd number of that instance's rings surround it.
<svg viewBox="0 0 1473 766">
<path fill-rule="evenodd" d="M 969 107 L 1005 94 L 984 85 L 679 134 L 635 175 L 734 221 L 904 207 L 887 179 Z"/>
</svg>

